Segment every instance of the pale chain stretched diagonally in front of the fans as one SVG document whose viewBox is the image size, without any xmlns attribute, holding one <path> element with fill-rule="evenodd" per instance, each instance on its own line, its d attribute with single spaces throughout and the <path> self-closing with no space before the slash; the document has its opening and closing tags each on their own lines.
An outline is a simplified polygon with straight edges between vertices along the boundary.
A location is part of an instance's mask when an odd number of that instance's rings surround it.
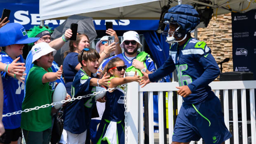
<svg viewBox="0 0 256 144">
<path fill-rule="evenodd" d="M 21 113 L 23 113 L 23 112 L 28 112 L 28 111 L 33 111 L 33 110 L 38 110 L 38 109 L 41 109 L 41 108 L 47 108 L 47 107 L 49 107 L 49 106 L 55 106 L 55 105 L 57 105 L 57 104 L 64 104 L 64 103 L 66 103 L 66 102 L 72 102 L 72 101 L 74 101 L 74 100 L 76 100 L 76 99 L 83 99 L 83 98 L 85 98 L 85 97 L 91 97 L 92 95 L 96 95 L 96 94 L 101 94 L 101 93 L 103 93 L 103 92 L 107 92 L 107 91 L 111 91 L 111 90 L 115 90 L 116 89 L 116 87 L 113 87 L 113 88 L 109 88 L 109 89 L 107 89 L 107 90 L 102 90 L 102 91 L 100 91 L 100 92 L 93 92 L 92 94 L 87 94 L 87 95 L 83 95 L 83 96 L 78 96 L 78 97 L 73 97 L 73 98 L 71 98 L 71 99 L 67 99 L 67 100 L 62 100 L 62 101 L 60 101 L 60 102 L 53 102 L 53 103 L 51 103 L 51 104 L 45 104 L 45 105 L 42 105 L 42 106 L 36 106 L 36 107 L 34 107 L 34 108 L 30 108 L 30 109 L 24 109 L 23 111 L 15 111 L 15 112 L 13 112 L 13 113 L 6 113 L 6 114 L 4 114 L 4 115 L 2 115 L 2 117 L 8 117 L 8 116 L 12 116 L 12 115 L 17 115 L 17 114 L 21 114 Z"/>
</svg>

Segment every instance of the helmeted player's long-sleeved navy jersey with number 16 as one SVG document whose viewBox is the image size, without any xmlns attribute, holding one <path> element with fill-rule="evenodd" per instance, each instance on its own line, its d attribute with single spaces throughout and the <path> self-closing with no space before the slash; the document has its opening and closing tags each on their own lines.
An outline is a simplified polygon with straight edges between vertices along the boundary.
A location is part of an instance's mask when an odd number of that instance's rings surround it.
<svg viewBox="0 0 256 144">
<path fill-rule="evenodd" d="M 184 45 L 178 46 L 177 42 L 171 45 L 168 59 L 156 72 L 149 74 L 149 80 L 167 76 L 175 68 L 179 85 L 187 85 L 192 92 L 183 97 L 184 102 L 196 104 L 215 96 L 209 83 L 217 78 L 220 70 L 205 42 L 190 38 Z"/>
</svg>

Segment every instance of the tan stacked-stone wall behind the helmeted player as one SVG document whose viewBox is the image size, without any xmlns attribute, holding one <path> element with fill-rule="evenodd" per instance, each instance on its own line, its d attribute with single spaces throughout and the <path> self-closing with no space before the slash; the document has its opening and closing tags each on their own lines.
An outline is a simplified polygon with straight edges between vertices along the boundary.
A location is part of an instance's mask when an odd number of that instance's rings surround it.
<svg viewBox="0 0 256 144">
<path fill-rule="evenodd" d="M 219 15 L 217 19 L 214 15 L 213 18 L 207 28 L 198 28 L 197 38 L 206 42 L 211 48 L 211 54 L 217 63 L 227 57 L 230 58 L 228 62 L 222 64 L 222 72 L 233 71 L 231 13 Z"/>
</svg>

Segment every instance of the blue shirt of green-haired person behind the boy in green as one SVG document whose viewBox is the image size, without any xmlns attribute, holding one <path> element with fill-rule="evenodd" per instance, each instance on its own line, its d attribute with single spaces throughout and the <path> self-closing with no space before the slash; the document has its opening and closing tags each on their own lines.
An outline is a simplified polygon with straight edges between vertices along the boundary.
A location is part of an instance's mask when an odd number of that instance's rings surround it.
<svg viewBox="0 0 256 144">
<path fill-rule="evenodd" d="M 26 58 L 26 74 L 27 75 L 25 77 L 25 84 L 26 84 L 26 80 L 27 80 L 27 77 L 28 77 L 28 73 L 29 73 L 30 69 L 34 66 L 34 64 L 32 64 L 32 59 L 33 59 L 32 52 L 29 51 L 28 52 L 28 56 Z M 54 72 L 54 73 L 59 70 L 59 66 L 58 66 L 58 64 L 55 61 L 52 61 L 51 68 L 52 68 L 52 72 Z M 65 82 L 64 82 L 62 76 L 61 76 L 60 79 L 55 80 L 55 82 L 56 83 L 63 83 L 65 85 Z"/>
</svg>

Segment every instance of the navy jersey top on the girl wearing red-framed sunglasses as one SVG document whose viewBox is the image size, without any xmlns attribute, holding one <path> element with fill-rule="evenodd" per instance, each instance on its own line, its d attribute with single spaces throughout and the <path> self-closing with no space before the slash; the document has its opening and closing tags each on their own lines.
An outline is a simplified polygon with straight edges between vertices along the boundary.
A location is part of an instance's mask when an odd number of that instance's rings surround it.
<svg viewBox="0 0 256 144">
<path fill-rule="evenodd" d="M 124 119 L 124 91 L 117 86 L 113 92 L 106 93 L 105 111 L 102 119 L 118 122 Z"/>
</svg>

